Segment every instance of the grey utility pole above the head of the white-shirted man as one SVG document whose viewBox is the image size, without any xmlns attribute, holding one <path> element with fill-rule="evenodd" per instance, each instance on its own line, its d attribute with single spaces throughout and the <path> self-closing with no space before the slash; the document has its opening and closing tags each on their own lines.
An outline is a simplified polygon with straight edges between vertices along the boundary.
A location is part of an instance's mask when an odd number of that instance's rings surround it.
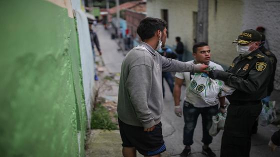
<svg viewBox="0 0 280 157">
<path fill-rule="evenodd" d="M 196 41 L 208 43 L 208 0 L 198 0 Z"/>
</svg>

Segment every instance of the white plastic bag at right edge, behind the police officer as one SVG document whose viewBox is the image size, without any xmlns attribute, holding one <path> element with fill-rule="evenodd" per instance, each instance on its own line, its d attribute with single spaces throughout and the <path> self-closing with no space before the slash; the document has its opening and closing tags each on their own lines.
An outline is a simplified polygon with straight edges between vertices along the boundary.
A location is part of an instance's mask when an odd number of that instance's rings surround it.
<svg viewBox="0 0 280 157">
<path fill-rule="evenodd" d="M 275 101 L 270 101 L 268 106 L 262 104 L 260 115 L 258 116 L 259 125 L 266 127 L 276 120 Z"/>
</svg>

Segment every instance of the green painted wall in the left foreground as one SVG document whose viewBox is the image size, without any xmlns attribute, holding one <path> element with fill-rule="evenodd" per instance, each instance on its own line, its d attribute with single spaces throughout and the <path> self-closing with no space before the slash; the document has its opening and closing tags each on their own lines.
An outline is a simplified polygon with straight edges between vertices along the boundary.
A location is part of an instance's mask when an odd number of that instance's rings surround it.
<svg viewBox="0 0 280 157">
<path fill-rule="evenodd" d="M 83 157 L 75 20 L 44 0 L 0 0 L 0 14 L 0 156 Z"/>
</svg>

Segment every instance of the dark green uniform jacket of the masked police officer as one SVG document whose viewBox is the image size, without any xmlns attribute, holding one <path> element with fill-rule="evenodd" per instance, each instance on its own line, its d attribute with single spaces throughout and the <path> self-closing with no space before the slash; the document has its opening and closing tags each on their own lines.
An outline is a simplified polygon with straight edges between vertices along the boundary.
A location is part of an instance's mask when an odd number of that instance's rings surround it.
<svg viewBox="0 0 280 157">
<path fill-rule="evenodd" d="M 268 76 L 271 74 L 271 69 L 268 57 L 259 50 L 251 52 L 244 58 L 241 55 L 236 57 L 226 70 L 234 75 L 225 83 L 236 89 L 232 95 L 227 96 L 230 103 L 260 102 L 267 96 L 267 85 L 270 79 Z"/>
</svg>

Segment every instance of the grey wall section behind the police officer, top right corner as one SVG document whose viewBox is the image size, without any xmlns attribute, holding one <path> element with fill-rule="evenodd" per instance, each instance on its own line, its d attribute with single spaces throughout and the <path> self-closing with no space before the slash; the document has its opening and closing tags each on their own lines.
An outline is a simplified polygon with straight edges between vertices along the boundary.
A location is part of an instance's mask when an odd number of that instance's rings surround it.
<svg viewBox="0 0 280 157">
<path fill-rule="evenodd" d="M 242 30 L 257 26 L 266 28 L 265 36 L 270 51 L 277 57 L 274 88 L 280 90 L 280 0 L 243 0 Z"/>
</svg>

